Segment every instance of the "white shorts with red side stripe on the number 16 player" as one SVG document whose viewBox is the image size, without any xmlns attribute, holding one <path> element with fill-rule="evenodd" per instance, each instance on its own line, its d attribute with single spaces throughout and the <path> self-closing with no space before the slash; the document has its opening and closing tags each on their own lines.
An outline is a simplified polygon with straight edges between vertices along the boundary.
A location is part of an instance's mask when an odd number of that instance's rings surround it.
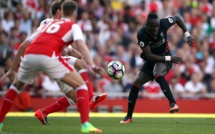
<svg viewBox="0 0 215 134">
<path fill-rule="evenodd" d="M 67 57 L 68 58 L 68 57 Z M 67 59 L 74 65 L 75 58 Z M 73 71 L 74 67 L 61 56 L 46 56 L 37 54 L 27 54 L 22 58 L 18 71 L 18 80 L 31 84 L 33 78 L 38 71 L 44 72 L 49 77 L 55 79 L 61 88 L 61 91 L 67 93 L 72 90 L 72 87 L 64 83 L 59 83 L 60 79 L 66 73 Z"/>
</svg>

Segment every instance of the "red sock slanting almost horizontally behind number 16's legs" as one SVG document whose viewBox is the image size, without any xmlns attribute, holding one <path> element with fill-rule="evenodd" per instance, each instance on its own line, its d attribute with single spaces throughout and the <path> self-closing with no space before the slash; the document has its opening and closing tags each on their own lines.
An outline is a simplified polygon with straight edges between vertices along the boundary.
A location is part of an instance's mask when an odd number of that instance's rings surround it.
<svg viewBox="0 0 215 134">
<path fill-rule="evenodd" d="M 44 114 L 48 115 L 50 113 L 58 112 L 64 110 L 68 106 L 74 104 L 74 102 L 67 98 L 66 96 L 59 98 L 56 102 L 52 103 L 51 105 L 42 108 Z"/>
</svg>

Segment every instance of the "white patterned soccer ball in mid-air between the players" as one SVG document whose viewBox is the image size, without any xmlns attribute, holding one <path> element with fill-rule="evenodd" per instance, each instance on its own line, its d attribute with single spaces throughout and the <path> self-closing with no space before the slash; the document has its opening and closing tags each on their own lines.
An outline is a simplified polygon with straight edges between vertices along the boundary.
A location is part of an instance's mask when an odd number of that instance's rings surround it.
<svg viewBox="0 0 215 134">
<path fill-rule="evenodd" d="M 120 79 L 125 73 L 125 67 L 120 61 L 111 61 L 106 71 L 111 78 Z"/>
</svg>

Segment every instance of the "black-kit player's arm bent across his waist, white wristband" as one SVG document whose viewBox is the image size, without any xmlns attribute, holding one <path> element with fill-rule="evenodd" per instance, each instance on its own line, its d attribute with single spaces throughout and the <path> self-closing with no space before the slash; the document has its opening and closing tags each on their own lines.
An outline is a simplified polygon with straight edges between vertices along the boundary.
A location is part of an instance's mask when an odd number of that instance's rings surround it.
<svg viewBox="0 0 215 134">
<path fill-rule="evenodd" d="M 182 59 L 180 57 L 176 56 L 159 56 L 156 54 L 153 54 L 151 52 L 151 49 L 149 45 L 146 45 L 145 47 L 141 47 L 142 49 L 142 54 L 144 59 L 149 60 L 149 61 L 155 61 L 155 62 L 164 62 L 164 61 L 171 61 L 172 63 L 177 63 L 180 64 L 182 62 Z"/>
</svg>

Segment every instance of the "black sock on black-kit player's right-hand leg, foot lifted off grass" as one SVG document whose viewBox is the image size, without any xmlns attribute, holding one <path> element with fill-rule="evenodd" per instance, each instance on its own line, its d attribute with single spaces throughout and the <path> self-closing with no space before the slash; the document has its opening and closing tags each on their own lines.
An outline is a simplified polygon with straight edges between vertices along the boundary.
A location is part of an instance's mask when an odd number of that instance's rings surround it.
<svg viewBox="0 0 215 134">
<path fill-rule="evenodd" d="M 156 77 L 156 81 L 157 83 L 159 83 L 164 95 L 169 100 L 170 105 L 175 104 L 175 99 L 173 98 L 172 92 L 166 79 L 162 75 L 159 75 Z"/>
</svg>

